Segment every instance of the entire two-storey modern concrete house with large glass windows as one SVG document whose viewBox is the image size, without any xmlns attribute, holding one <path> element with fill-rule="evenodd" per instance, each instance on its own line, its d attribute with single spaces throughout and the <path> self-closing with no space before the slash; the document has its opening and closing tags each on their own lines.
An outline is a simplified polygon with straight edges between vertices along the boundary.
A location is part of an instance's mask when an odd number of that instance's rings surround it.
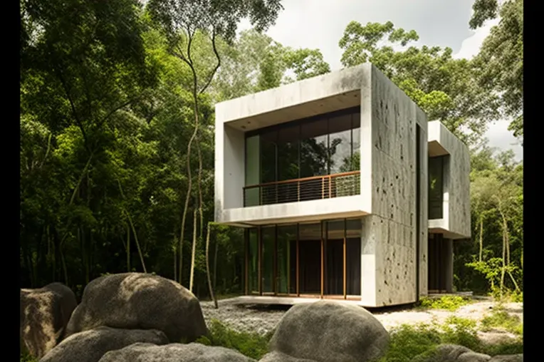
<svg viewBox="0 0 544 362">
<path fill-rule="evenodd" d="M 215 219 L 246 301 L 362 306 L 451 291 L 469 152 L 370 63 L 216 105 Z"/>
</svg>

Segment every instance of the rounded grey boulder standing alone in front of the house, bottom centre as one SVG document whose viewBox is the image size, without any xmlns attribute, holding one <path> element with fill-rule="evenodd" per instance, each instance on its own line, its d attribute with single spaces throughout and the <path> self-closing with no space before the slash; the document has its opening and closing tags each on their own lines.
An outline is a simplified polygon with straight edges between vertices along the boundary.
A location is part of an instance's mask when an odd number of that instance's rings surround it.
<svg viewBox="0 0 544 362">
<path fill-rule="evenodd" d="M 316 301 L 287 311 L 270 349 L 301 360 L 366 362 L 383 356 L 388 344 L 389 334 L 366 309 Z"/>
</svg>

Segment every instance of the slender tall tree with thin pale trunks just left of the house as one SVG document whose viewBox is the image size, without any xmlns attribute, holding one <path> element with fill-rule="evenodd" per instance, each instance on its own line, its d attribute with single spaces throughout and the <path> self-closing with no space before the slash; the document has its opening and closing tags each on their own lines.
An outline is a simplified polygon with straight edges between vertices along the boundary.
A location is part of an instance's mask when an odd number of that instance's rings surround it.
<svg viewBox="0 0 544 362">
<path fill-rule="evenodd" d="M 236 28 L 241 21 L 249 17 L 251 24 L 258 31 L 268 28 L 276 21 L 278 11 L 280 11 L 280 0 L 236 0 L 236 1 L 207 1 L 207 0 L 150 0 L 148 3 L 150 14 L 157 24 L 164 31 L 165 36 L 169 41 L 169 51 L 172 55 L 189 66 L 192 72 L 193 86 L 193 114 L 194 114 L 194 132 L 187 143 L 187 180 L 189 187 L 187 188 L 187 196 L 184 203 L 184 211 L 182 214 L 182 230 L 179 238 L 179 281 L 182 279 L 182 243 L 184 240 L 185 219 L 187 217 L 187 209 L 189 207 L 189 199 L 192 192 L 192 175 L 191 175 L 191 150 L 192 143 L 197 140 L 197 151 L 199 156 L 199 172 L 198 172 L 198 208 L 200 217 L 200 237 L 202 241 L 204 233 L 204 217 L 202 213 L 202 155 L 198 143 L 199 135 L 199 95 L 204 93 L 206 88 L 216 74 L 216 71 L 221 66 L 221 56 L 217 51 L 216 41 L 218 38 L 223 38 L 227 43 L 231 43 L 236 36 Z M 197 66 L 193 58 L 193 45 L 195 37 L 198 35 L 209 37 L 211 48 L 216 57 L 216 65 L 207 71 L 204 76 L 197 72 Z M 194 230 L 193 232 L 196 232 Z M 192 275 L 194 269 L 194 251 L 196 248 L 197 239 L 193 238 L 193 257 L 191 266 L 191 280 L 189 281 L 189 289 L 192 289 Z"/>
</svg>

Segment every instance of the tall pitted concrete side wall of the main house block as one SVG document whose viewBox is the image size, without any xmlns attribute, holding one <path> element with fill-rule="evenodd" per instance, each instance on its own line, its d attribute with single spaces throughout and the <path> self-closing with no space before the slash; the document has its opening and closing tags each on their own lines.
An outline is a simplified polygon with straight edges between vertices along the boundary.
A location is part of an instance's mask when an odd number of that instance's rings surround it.
<svg viewBox="0 0 544 362">
<path fill-rule="evenodd" d="M 370 97 L 365 98 L 362 91 L 362 109 L 370 112 L 362 111 L 361 119 L 362 128 L 370 129 L 367 142 L 361 142 L 365 147 L 361 153 L 370 154 L 368 171 L 372 184 L 372 215 L 365 217 L 367 222 L 363 223 L 363 298 L 365 277 L 372 278 L 364 263 L 365 259 L 371 262 L 373 252 L 375 298 L 372 301 L 369 296 L 365 304 L 404 304 L 416 301 L 418 292 L 427 291 L 427 118 L 376 68 L 371 68 L 370 76 Z M 416 154 L 417 125 L 421 130 L 419 155 Z M 421 177 L 419 218 L 416 214 L 417 157 Z M 418 273 L 424 275 L 420 275 L 417 291 Z M 371 289 L 370 285 L 367 284 L 367 290 Z"/>
</svg>

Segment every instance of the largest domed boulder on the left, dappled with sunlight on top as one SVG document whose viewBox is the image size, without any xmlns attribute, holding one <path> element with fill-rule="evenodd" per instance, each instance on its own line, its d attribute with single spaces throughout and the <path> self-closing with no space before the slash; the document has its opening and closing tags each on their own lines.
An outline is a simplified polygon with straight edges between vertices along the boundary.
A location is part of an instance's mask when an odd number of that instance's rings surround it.
<svg viewBox="0 0 544 362">
<path fill-rule="evenodd" d="M 68 335 L 97 326 L 158 329 L 170 342 L 194 341 L 207 333 L 194 294 L 175 281 L 142 273 L 101 276 L 85 287 Z"/>
</svg>

